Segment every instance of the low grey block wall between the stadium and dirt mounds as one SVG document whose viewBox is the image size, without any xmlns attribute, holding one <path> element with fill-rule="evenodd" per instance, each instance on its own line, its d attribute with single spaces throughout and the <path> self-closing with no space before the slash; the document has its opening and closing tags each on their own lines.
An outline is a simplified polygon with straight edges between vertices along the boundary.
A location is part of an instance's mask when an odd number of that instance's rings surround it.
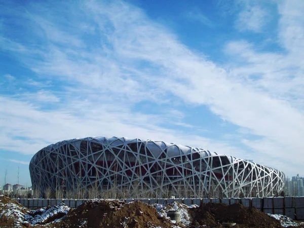
<svg viewBox="0 0 304 228">
<path fill-rule="evenodd" d="M 28 208 L 40 208 L 48 205 L 64 203 L 69 207 L 81 205 L 85 199 L 15 199 L 21 205 Z M 119 199 L 120 201 L 130 203 L 132 201 L 141 201 L 148 204 L 169 204 L 174 201 L 186 204 L 188 206 L 204 203 L 223 203 L 227 205 L 243 204 L 246 207 L 255 207 L 259 211 L 271 214 L 283 214 L 292 219 L 304 220 L 304 197 L 270 197 L 270 198 L 224 198 L 224 199 Z"/>
</svg>

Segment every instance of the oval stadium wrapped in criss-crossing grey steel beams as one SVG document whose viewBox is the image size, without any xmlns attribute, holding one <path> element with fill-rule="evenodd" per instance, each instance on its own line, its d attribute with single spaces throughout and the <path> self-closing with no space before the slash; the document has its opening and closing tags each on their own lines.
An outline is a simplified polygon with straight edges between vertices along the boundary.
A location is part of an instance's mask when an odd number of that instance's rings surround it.
<svg viewBox="0 0 304 228">
<path fill-rule="evenodd" d="M 188 197 L 220 192 L 225 197 L 272 196 L 283 189 L 276 169 L 208 150 L 163 141 L 88 137 L 51 144 L 29 164 L 33 188 L 66 191 L 81 184 L 110 189 L 138 189 Z M 59 185 L 58 185 L 59 183 Z"/>
</svg>

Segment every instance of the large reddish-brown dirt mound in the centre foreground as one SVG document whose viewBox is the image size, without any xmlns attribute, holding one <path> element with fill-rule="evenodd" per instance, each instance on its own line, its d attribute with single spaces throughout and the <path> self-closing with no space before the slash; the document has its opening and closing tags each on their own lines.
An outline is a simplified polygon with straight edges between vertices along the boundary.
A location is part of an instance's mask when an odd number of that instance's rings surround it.
<svg viewBox="0 0 304 228">
<path fill-rule="evenodd" d="M 171 227 L 156 209 L 142 202 L 90 200 L 70 211 L 60 221 L 64 227 Z"/>
</svg>

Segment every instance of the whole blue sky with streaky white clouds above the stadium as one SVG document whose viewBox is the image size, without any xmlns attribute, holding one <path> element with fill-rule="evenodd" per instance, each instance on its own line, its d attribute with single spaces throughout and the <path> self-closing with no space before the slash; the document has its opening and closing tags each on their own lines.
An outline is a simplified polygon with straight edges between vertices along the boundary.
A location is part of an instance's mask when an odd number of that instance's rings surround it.
<svg viewBox="0 0 304 228">
<path fill-rule="evenodd" d="M 0 1 L 0 183 L 139 137 L 304 176 L 303 1 Z"/>
</svg>

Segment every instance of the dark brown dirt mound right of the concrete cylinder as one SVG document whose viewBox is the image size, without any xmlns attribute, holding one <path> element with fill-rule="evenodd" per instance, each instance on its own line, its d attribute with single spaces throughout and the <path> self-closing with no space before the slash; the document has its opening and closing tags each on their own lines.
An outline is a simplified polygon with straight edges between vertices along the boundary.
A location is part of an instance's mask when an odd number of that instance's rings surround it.
<svg viewBox="0 0 304 228">
<path fill-rule="evenodd" d="M 206 225 L 207 227 L 223 227 L 223 222 L 236 222 L 233 227 L 275 228 L 283 227 L 280 221 L 255 208 L 241 204 L 225 205 L 218 203 L 203 204 L 200 207 L 189 209 L 192 216 L 192 226 Z M 205 226 L 205 227 L 206 227 Z M 203 227 L 203 226 L 202 226 Z"/>
</svg>

